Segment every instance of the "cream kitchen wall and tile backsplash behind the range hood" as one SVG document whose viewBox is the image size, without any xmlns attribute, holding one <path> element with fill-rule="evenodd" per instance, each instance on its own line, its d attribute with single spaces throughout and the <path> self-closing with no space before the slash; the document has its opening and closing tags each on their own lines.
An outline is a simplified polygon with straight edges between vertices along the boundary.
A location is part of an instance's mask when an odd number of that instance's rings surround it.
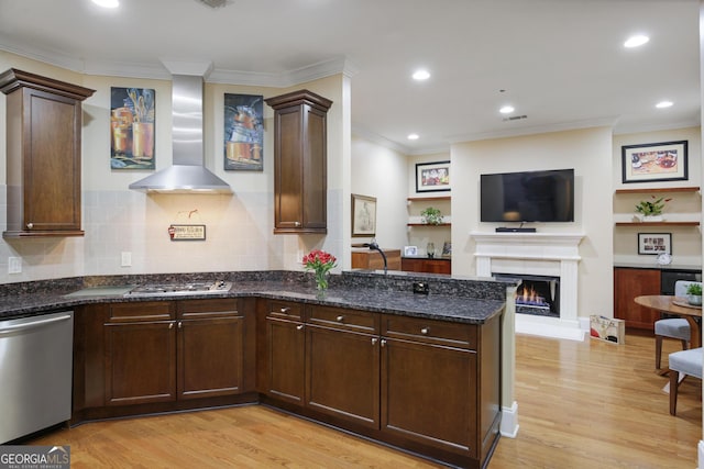
<svg viewBox="0 0 704 469">
<path fill-rule="evenodd" d="M 128 189 L 148 171 L 110 169 L 110 87 L 156 90 L 156 169 L 172 164 L 170 81 L 98 77 L 0 52 L 0 69 L 14 67 L 96 89 L 84 102 L 82 227 L 84 237 L 0 239 L 0 282 L 74 277 L 218 270 L 302 269 L 300 260 L 314 247 L 340 258 L 349 250 L 343 216 L 349 175 L 349 81 L 328 77 L 296 87 L 273 89 L 207 83 L 205 94 L 206 166 L 232 187 L 233 196 L 145 194 Z M 223 139 L 223 94 L 263 94 L 264 98 L 306 88 L 333 101 L 328 112 L 328 234 L 274 235 L 273 110 L 264 105 L 264 171 L 224 171 L 219 142 Z M 346 103 L 343 103 L 346 101 Z M 0 115 L 6 99 L 0 94 Z M 6 129 L 0 125 L 0 230 L 6 230 Z M 349 137 L 348 137 L 349 142 Z M 348 196 L 349 198 L 349 192 Z M 349 209 L 348 209 L 349 210 Z M 349 211 L 346 212 L 349 213 Z M 172 242 L 172 223 L 206 225 L 205 242 Z M 345 247 L 346 246 L 346 247 Z M 132 253 L 132 266 L 121 267 L 122 252 Z M 22 258 L 22 272 L 8 273 L 8 257 Z"/>
</svg>

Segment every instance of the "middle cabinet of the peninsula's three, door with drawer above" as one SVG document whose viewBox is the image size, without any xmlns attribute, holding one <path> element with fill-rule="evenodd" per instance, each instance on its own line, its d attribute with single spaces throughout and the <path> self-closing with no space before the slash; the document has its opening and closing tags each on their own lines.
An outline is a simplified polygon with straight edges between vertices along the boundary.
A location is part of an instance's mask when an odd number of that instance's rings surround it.
<svg viewBox="0 0 704 469">
<path fill-rule="evenodd" d="M 306 405 L 378 428 L 378 314 L 310 306 L 306 326 Z"/>
</svg>

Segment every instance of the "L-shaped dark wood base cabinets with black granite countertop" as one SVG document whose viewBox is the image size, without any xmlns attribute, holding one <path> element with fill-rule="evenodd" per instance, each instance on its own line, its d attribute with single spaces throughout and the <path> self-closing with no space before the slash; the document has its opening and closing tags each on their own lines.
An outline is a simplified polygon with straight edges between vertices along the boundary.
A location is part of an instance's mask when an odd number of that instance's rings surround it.
<svg viewBox="0 0 704 469">
<path fill-rule="evenodd" d="M 204 277 L 232 288 L 66 297 Z M 418 281 L 429 294 L 413 293 Z M 3 286 L 0 319 L 74 310 L 72 424 L 263 403 L 479 468 L 498 442 L 502 317 L 512 287 L 345 271 L 319 295 L 309 275 L 292 271 L 87 277 Z"/>
</svg>

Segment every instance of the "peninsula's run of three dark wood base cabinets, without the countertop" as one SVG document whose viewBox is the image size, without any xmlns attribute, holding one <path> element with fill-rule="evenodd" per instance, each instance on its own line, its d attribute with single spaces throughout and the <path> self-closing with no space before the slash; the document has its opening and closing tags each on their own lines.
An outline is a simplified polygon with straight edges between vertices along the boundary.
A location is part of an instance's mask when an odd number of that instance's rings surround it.
<svg viewBox="0 0 704 469">
<path fill-rule="evenodd" d="M 284 310 L 298 311 L 287 328 Z M 266 403 L 451 465 L 488 460 L 501 423 L 499 317 L 472 325 L 270 302 L 265 321 Z M 301 357 L 304 388 L 290 373 Z"/>
</svg>

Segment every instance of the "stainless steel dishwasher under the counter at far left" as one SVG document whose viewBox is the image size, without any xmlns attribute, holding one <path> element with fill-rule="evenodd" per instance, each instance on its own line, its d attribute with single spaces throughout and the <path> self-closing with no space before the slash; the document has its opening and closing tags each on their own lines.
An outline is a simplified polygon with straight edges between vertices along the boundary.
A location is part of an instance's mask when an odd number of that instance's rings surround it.
<svg viewBox="0 0 704 469">
<path fill-rule="evenodd" d="M 70 418 L 73 311 L 0 321 L 0 444 Z"/>
</svg>

